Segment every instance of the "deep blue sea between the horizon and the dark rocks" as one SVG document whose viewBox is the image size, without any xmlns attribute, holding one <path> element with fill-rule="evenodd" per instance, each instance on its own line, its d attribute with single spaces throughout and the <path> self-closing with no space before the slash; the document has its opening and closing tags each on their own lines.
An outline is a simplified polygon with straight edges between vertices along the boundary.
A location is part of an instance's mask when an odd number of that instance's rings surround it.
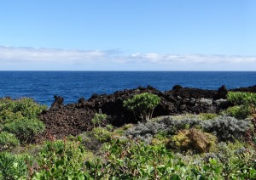
<svg viewBox="0 0 256 180">
<path fill-rule="evenodd" d="M 29 97 L 49 106 L 54 95 L 69 104 L 94 93 L 148 85 L 167 91 L 177 84 L 202 89 L 249 87 L 256 85 L 256 71 L 0 71 L 0 98 Z"/>
</svg>

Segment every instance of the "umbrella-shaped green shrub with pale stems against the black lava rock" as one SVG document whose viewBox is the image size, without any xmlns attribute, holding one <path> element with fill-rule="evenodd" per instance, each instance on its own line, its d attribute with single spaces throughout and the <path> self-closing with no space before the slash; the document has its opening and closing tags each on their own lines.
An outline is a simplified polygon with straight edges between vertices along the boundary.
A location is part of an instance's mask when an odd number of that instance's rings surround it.
<svg viewBox="0 0 256 180">
<path fill-rule="evenodd" d="M 160 97 L 153 93 L 141 93 L 124 101 L 124 106 L 143 121 L 152 118 L 155 106 L 160 104 Z"/>
</svg>

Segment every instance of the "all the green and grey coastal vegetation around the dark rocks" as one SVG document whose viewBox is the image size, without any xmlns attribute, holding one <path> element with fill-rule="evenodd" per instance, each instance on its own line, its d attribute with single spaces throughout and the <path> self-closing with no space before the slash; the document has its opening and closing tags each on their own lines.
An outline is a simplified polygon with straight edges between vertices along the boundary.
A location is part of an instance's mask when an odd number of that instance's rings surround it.
<svg viewBox="0 0 256 180">
<path fill-rule="evenodd" d="M 160 98 L 143 93 L 124 102 L 137 124 L 106 126 L 108 116 L 97 113 L 91 131 L 40 144 L 32 137 L 44 130 L 38 115 L 46 108 L 3 98 L 0 179 L 256 179 L 255 112 L 232 114 L 255 107 L 254 96 L 229 93 L 234 107 L 219 115 L 151 119 Z"/>
</svg>

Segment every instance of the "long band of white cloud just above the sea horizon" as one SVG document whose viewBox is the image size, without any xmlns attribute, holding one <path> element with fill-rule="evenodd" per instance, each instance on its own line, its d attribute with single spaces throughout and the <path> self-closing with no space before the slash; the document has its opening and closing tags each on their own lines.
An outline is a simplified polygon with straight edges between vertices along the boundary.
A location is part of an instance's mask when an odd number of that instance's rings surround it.
<svg viewBox="0 0 256 180">
<path fill-rule="evenodd" d="M 8 66 L 9 65 L 9 66 Z M 160 54 L 160 53 L 131 53 L 125 54 L 119 50 L 66 50 L 54 48 L 14 48 L 0 46 L 0 70 L 30 70 L 33 65 L 63 65 L 65 70 L 254 70 L 256 56 L 227 56 L 205 54 Z M 103 66 L 108 66 L 104 69 Z M 125 65 L 125 66 L 124 66 Z M 114 67 L 113 69 L 111 69 Z M 119 68 L 122 67 L 122 68 Z M 148 69 L 148 67 L 150 67 Z M 211 69 L 212 67 L 212 69 Z M 141 69 L 140 69 L 141 68 Z M 233 68 L 233 69 L 232 69 Z M 39 70 L 38 67 L 37 70 Z"/>
</svg>

